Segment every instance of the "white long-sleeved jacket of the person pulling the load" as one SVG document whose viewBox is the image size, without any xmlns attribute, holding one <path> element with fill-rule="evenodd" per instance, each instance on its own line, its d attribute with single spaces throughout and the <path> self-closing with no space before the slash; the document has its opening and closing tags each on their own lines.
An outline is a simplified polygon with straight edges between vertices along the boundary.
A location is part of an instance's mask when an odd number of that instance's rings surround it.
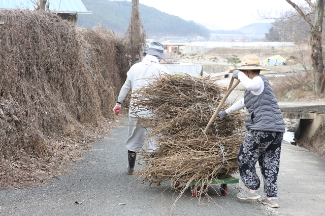
<svg viewBox="0 0 325 216">
<path fill-rule="evenodd" d="M 170 74 L 170 72 L 166 67 L 159 64 L 159 61 L 155 56 L 147 54 L 142 62 L 134 64 L 126 73 L 127 78 L 120 90 L 117 101 L 122 103 L 130 89 L 134 92 L 152 82 L 153 78 L 164 74 Z M 129 116 L 136 117 L 132 113 L 139 109 L 133 107 L 133 103 L 134 100 L 131 100 L 128 114 Z M 148 111 L 141 111 L 137 114 L 141 117 L 146 117 Z"/>
</svg>

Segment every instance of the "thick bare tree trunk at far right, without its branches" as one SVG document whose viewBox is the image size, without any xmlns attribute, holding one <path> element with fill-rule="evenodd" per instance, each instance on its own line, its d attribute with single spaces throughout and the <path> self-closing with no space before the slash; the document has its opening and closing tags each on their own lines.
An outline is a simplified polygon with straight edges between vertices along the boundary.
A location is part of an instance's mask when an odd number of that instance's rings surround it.
<svg viewBox="0 0 325 216">
<path fill-rule="evenodd" d="M 315 28 L 311 28 L 311 58 L 313 62 L 313 72 L 314 72 L 314 90 L 315 95 L 320 95 L 324 92 L 324 64 L 322 57 L 322 47 L 321 47 L 321 32 L 324 14 L 324 0 L 316 1 L 315 9 Z"/>
</svg>

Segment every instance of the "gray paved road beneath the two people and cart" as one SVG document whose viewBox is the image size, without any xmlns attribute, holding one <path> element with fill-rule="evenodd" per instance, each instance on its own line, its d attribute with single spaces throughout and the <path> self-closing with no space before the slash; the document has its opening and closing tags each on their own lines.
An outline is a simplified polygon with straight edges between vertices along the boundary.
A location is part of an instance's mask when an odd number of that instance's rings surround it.
<svg viewBox="0 0 325 216">
<path fill-rule="evenodd" d="M 258 200 L 238 200 L 240 183 L 228 185 L 226 196 L 218 196 L 210 188 L 216 204 L 198 205 L 188 192 L 171 213 L 178 193 L 174 195 L 168 183 L 149 187 L 133 182 L 136 176 L 126 174 L 127 128 L 120 125 L 114 130 L 93 144 L 71 174 L 43 187 L 0 189 L 0 215 L 324 215 L 325 160 L 287 142 L 281 153 L 280 208 L 272 209 Z"/>
</svg>

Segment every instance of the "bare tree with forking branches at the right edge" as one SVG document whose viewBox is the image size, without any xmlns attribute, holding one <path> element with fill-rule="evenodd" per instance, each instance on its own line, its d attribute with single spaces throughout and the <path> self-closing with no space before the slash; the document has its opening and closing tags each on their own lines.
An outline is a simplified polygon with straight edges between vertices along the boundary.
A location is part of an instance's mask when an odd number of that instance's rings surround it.
<svg viewBox="0 0 325 216">
<path fill-rule="evenodd" d="M 290 4 L 299 15 L 308 23 L 310 26 L 310 45 L 311 45 L 311 60 L 313 65 L 313 76 L 314 76 L 314 92 L 315 95 L 320 95 L 324 92 L 324 64 L 322 57 L 322 24 L 323 24 L 323 13 L 325 0 L 316 0 L 312 3 L 310 0 L 305 0 L 310 8 L 310 11 L 314 14 L 314 23 L 308 17 L 300 6 L 296 5 L 290 0 L 285 0 Z"/>
</svg>

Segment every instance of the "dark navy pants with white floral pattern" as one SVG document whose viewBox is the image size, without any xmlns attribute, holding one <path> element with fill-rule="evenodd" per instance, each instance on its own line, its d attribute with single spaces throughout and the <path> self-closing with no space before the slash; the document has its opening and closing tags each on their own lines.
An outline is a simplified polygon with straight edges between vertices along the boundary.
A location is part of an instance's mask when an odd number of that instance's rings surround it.
<svg viewBox="0 0 325 216">
<path fill-rule="evenodd" d="M 283 133 L 249 130 L 238 153 L 239 174 L 244 185 L 257 190 L 260 180 L 255 164 L 258 160 L 267 197 L 278 195 L 278 173 Z"/>
</svg>

